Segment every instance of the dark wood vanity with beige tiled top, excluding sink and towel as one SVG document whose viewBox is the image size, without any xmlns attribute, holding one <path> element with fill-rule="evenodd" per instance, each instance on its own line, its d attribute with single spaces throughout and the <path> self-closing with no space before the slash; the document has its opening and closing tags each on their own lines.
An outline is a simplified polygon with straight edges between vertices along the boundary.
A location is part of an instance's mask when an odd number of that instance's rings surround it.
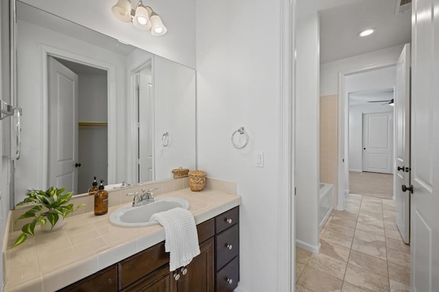
<svg viewBox="0 0 439 292">
<path fill-rule="evenodd" d="M 110 204 L 118 193 L 126 198 L 126 191 L 130 190 L 110 192 Z M 233 193 L 182 188 L 156 195 L 180 197 L 190 204 L 201 254 L 186 267 L 169 272 L 162 226 L 113 226 L 108 220 L 111 212 L 130 203 L 111 204 L 106 215 L 68 217 L 61 230 L 36 230 L 36 236 L 22 245 L 3 250 L 4 291 L 233 291 L 239 281 L 241 204 L 241 197 Z M 10 222 L 14 216 L 18 215 L 10 216 Z M 9 233 L 8 245 L 19 233 Z"/>
</svg>

